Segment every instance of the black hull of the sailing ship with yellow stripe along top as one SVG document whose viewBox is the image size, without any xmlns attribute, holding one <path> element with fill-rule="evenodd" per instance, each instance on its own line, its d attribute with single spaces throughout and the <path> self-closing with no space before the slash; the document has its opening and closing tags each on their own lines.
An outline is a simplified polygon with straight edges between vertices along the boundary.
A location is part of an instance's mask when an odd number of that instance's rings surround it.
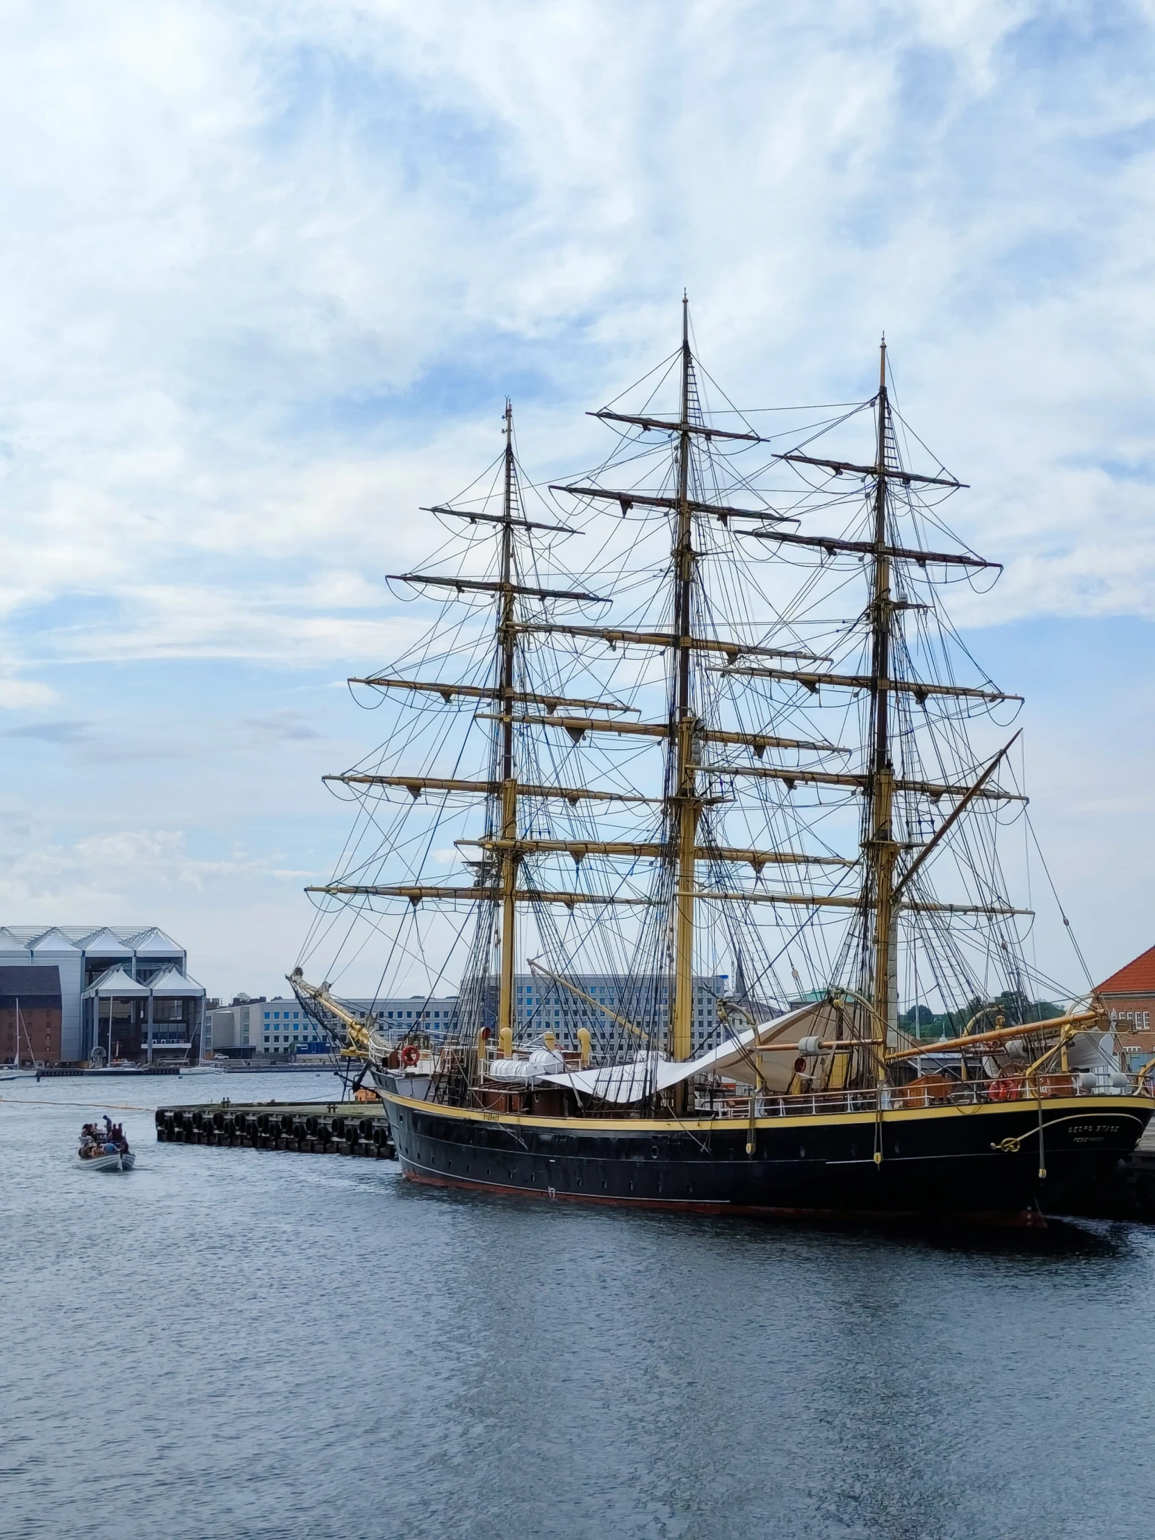
<svg viewBox="0 0 1155 1540">
<path fill-rule="evenodd" d="M 1030 1224 L 1047 1214 L 1093 1212 L 1155 1110 L 1147 1096 L 1072 1096 L 881 1116 L 802 1112 L 753 1126 L 744 1118 L 533 1118 L 419 1101 L 387 1072 L 377 1081 L 402 1170 L 417 1183 L 842 1220 Z"/>
</svg>

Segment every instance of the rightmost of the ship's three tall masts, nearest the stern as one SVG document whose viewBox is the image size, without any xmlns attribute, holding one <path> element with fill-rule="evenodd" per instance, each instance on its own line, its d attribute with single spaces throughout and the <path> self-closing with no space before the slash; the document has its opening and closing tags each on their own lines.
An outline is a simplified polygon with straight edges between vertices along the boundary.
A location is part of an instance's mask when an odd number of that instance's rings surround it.
<svg viewBox="0 0 1155 1540">
<path fill-rule="evenodd" d="M 867 764 L 865 839 L 862 855 L 867 870 L 867 893 L 873 902 L 867 912 L 873 922 L 872 989 L 875 1007 L 873 1032 L 898 1036 L 898 998 L 895 989 L 895 859 L 898 844 L 893 836 L 895 767 L 890 758 L 890 630 L 893 601 L 890 596 L 890 547 L 887 544 L 887 345 L 879 348 L 878 362 L 878 447 L 875 477 L 875 528 L 870 594 L 870 741 Z"/>
</svg>

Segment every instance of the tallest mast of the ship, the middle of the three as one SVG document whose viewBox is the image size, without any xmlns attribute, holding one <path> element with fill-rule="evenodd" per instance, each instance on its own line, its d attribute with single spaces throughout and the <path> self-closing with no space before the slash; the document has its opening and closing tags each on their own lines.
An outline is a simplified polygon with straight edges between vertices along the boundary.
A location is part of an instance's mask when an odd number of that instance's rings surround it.
<svg viewBox="0 0 1155 1540">
<path fill-rule="evenodd" d="M 673 1003 L 670 1015 L 670 1056 L 688 1060 L 693 1049 L 693 958 L 695 958 L 695 852 L 698 819 L 702 804 L 698 798 L 693 735 L 695 713 L 690 699 L 691 598 L 696 553 L 693 548 L 693 513 L 690 508 L 690 308 L 682 294 L 682 393 L 678 424 L 678 539 L 675 542 L 675 691 L 673 691 L 673 785 L 670 833 L 678 852 L 678 889 L 675 895 L 675 956 Z"/>
</svg>

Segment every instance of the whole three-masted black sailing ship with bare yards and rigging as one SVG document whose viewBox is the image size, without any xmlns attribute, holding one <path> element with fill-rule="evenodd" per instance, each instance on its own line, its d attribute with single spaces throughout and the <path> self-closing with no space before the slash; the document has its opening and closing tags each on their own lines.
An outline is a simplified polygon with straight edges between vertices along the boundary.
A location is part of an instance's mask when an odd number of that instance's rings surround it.
<svg viewBox="0 0 1155 1540">
<path fill-rule="evenodd" d="M 1021 698 L 946 611 L 998 576 L 944 522 L 962 484 L 886 342 L 869 400 L 799 411 L 733 408 L 684 302 L 593 473 L 533 487 L 507 403 L 425 510 L 396 581 L 430 625 L 351 681 L 390 732 L 328 778 L 356 821 L 291 975 L 414 1181 L 1035 1223 L 1143 1133 L 1146 1067 L 1009 892 Z M 413 1010 L 342 1003 L 367 947 Z"/>
</svg>

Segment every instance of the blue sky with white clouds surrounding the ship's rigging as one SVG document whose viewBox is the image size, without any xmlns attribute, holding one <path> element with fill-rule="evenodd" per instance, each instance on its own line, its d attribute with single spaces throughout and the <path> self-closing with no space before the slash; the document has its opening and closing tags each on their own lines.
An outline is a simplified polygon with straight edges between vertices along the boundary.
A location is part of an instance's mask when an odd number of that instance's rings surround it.
<svg viewBox="0 0 1155 1540">
<path fill-rule="evenodd" d="M 370 747 L 419 504 L 585 408 L 688 286 L 739 405 L 872 390 L 1006 562 L 1092 969 L 1155 942 L 1155 15 L 1080 3 L 11 5 L 0 59 L 6 922 L 159 922 L 268 992 Z"/>
</svg>

